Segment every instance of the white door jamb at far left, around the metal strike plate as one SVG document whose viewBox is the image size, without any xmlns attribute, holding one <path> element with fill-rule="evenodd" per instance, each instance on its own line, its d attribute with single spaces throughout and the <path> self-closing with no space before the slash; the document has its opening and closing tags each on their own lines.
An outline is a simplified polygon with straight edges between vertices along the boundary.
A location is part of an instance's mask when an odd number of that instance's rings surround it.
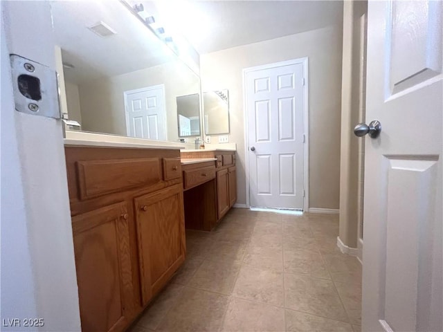
<svg viewBox="0 0 443 332">
<path fill-rule="evenodd" d="M 80 331 L 62 121 L 15 111 L 8 72 L 8 53 L 55 68 L 50 7 L 0 6 L 1 322 L 44 319 L 41 328 L 1 330 Z"/>
</svg>

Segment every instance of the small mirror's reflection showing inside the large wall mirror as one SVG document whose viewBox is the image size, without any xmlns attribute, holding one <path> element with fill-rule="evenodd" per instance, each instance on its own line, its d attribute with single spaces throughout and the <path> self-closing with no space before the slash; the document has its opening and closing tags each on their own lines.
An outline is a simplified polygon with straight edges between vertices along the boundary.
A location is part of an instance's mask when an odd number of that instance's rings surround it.
<svg viewBox="0 0 443 332">
<path fill-rule="evenodd" d="M 179 95 L 177 97 L 179 137 L 200 135 L 200 95 Z"/>
</svg>

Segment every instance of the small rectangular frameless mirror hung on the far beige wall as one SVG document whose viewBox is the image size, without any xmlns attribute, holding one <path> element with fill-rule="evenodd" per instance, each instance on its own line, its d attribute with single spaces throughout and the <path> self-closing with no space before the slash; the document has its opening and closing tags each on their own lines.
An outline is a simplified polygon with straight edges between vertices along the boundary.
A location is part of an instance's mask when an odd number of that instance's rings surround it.
<svg viewBox="0 0 443 332">
<path fill-rule="evenodd" d="M 228 90 L 205 92 L 203 105 L 205 134 L 229 133 Z"/>
</svg>

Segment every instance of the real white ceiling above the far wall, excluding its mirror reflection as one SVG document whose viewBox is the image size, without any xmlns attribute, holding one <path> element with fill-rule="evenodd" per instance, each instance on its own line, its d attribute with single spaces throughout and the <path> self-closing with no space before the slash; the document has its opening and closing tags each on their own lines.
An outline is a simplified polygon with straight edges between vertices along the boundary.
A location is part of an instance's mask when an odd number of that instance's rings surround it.
<svg viewBox="0 0 443 332">
<path fill-rule="evenodd" d="M 151 1 L 143 1 L 147 2 Z M 178 10 L 171 10 L 172 2 L 179 7 Z M 200 54 L 324 28 L 343 21 L 343 1 L 333 0 L 163 0 L 154 3 L 157 7 L 154 16 L 159 16 L 165 27 L 177 26 L 177 31 Z"/>
</svg>

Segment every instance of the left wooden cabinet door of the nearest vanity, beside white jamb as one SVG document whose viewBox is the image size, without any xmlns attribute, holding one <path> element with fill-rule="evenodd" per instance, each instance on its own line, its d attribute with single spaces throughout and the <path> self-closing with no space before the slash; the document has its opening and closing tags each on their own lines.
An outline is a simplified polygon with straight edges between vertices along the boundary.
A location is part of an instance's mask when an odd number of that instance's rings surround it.
<svg viewBox="0 0 443 332">
<path fill-rule="evenodd" d="M 83 332 L 123 331 L 134 304 L 127 206 L 116 203 L 73 216 Z"/>
</svg>

